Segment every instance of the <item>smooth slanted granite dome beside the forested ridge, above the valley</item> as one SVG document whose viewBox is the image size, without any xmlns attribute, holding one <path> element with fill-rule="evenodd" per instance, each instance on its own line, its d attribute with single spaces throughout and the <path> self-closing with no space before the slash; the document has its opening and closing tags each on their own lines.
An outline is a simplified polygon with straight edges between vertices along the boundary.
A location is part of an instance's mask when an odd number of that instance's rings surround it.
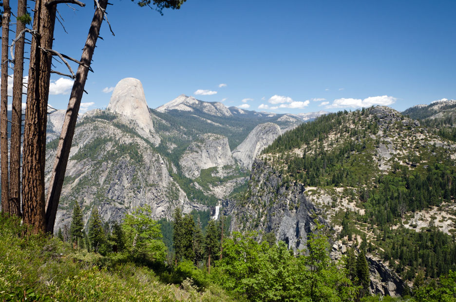
<svg viewBox="0 0 456 302">
<path fill-rule="evenodd" d="M 259 124 L 248 134 L 247 138 L 232 152 L 233 157 L 241 166 L 250 169 L 255 157 L 281 135 L 277 124 Z"/>
</svg>

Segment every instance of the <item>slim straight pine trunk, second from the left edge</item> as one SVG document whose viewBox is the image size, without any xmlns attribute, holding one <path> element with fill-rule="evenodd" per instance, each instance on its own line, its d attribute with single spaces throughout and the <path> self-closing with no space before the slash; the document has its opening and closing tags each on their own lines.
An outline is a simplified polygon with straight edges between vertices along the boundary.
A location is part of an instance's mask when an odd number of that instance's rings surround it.
<svg viewBox="0 0 456 302">
<path fill-rule="evenodd" d="M 18 15 L 27 13 L 27 0 L 18 1 Z M 25 29 L 25 23 L 16 21 L 16 38 Z M 11 113 L 11 146 L 10 146 L 10 212 L 18 217 L 20 211 L 20 134 L 22 131 L 22 88 L 24 73 L 24 39 L 22 36 L 15 43 L 14 77 L 13 77 L 13 107 Z"/>
</svg>

